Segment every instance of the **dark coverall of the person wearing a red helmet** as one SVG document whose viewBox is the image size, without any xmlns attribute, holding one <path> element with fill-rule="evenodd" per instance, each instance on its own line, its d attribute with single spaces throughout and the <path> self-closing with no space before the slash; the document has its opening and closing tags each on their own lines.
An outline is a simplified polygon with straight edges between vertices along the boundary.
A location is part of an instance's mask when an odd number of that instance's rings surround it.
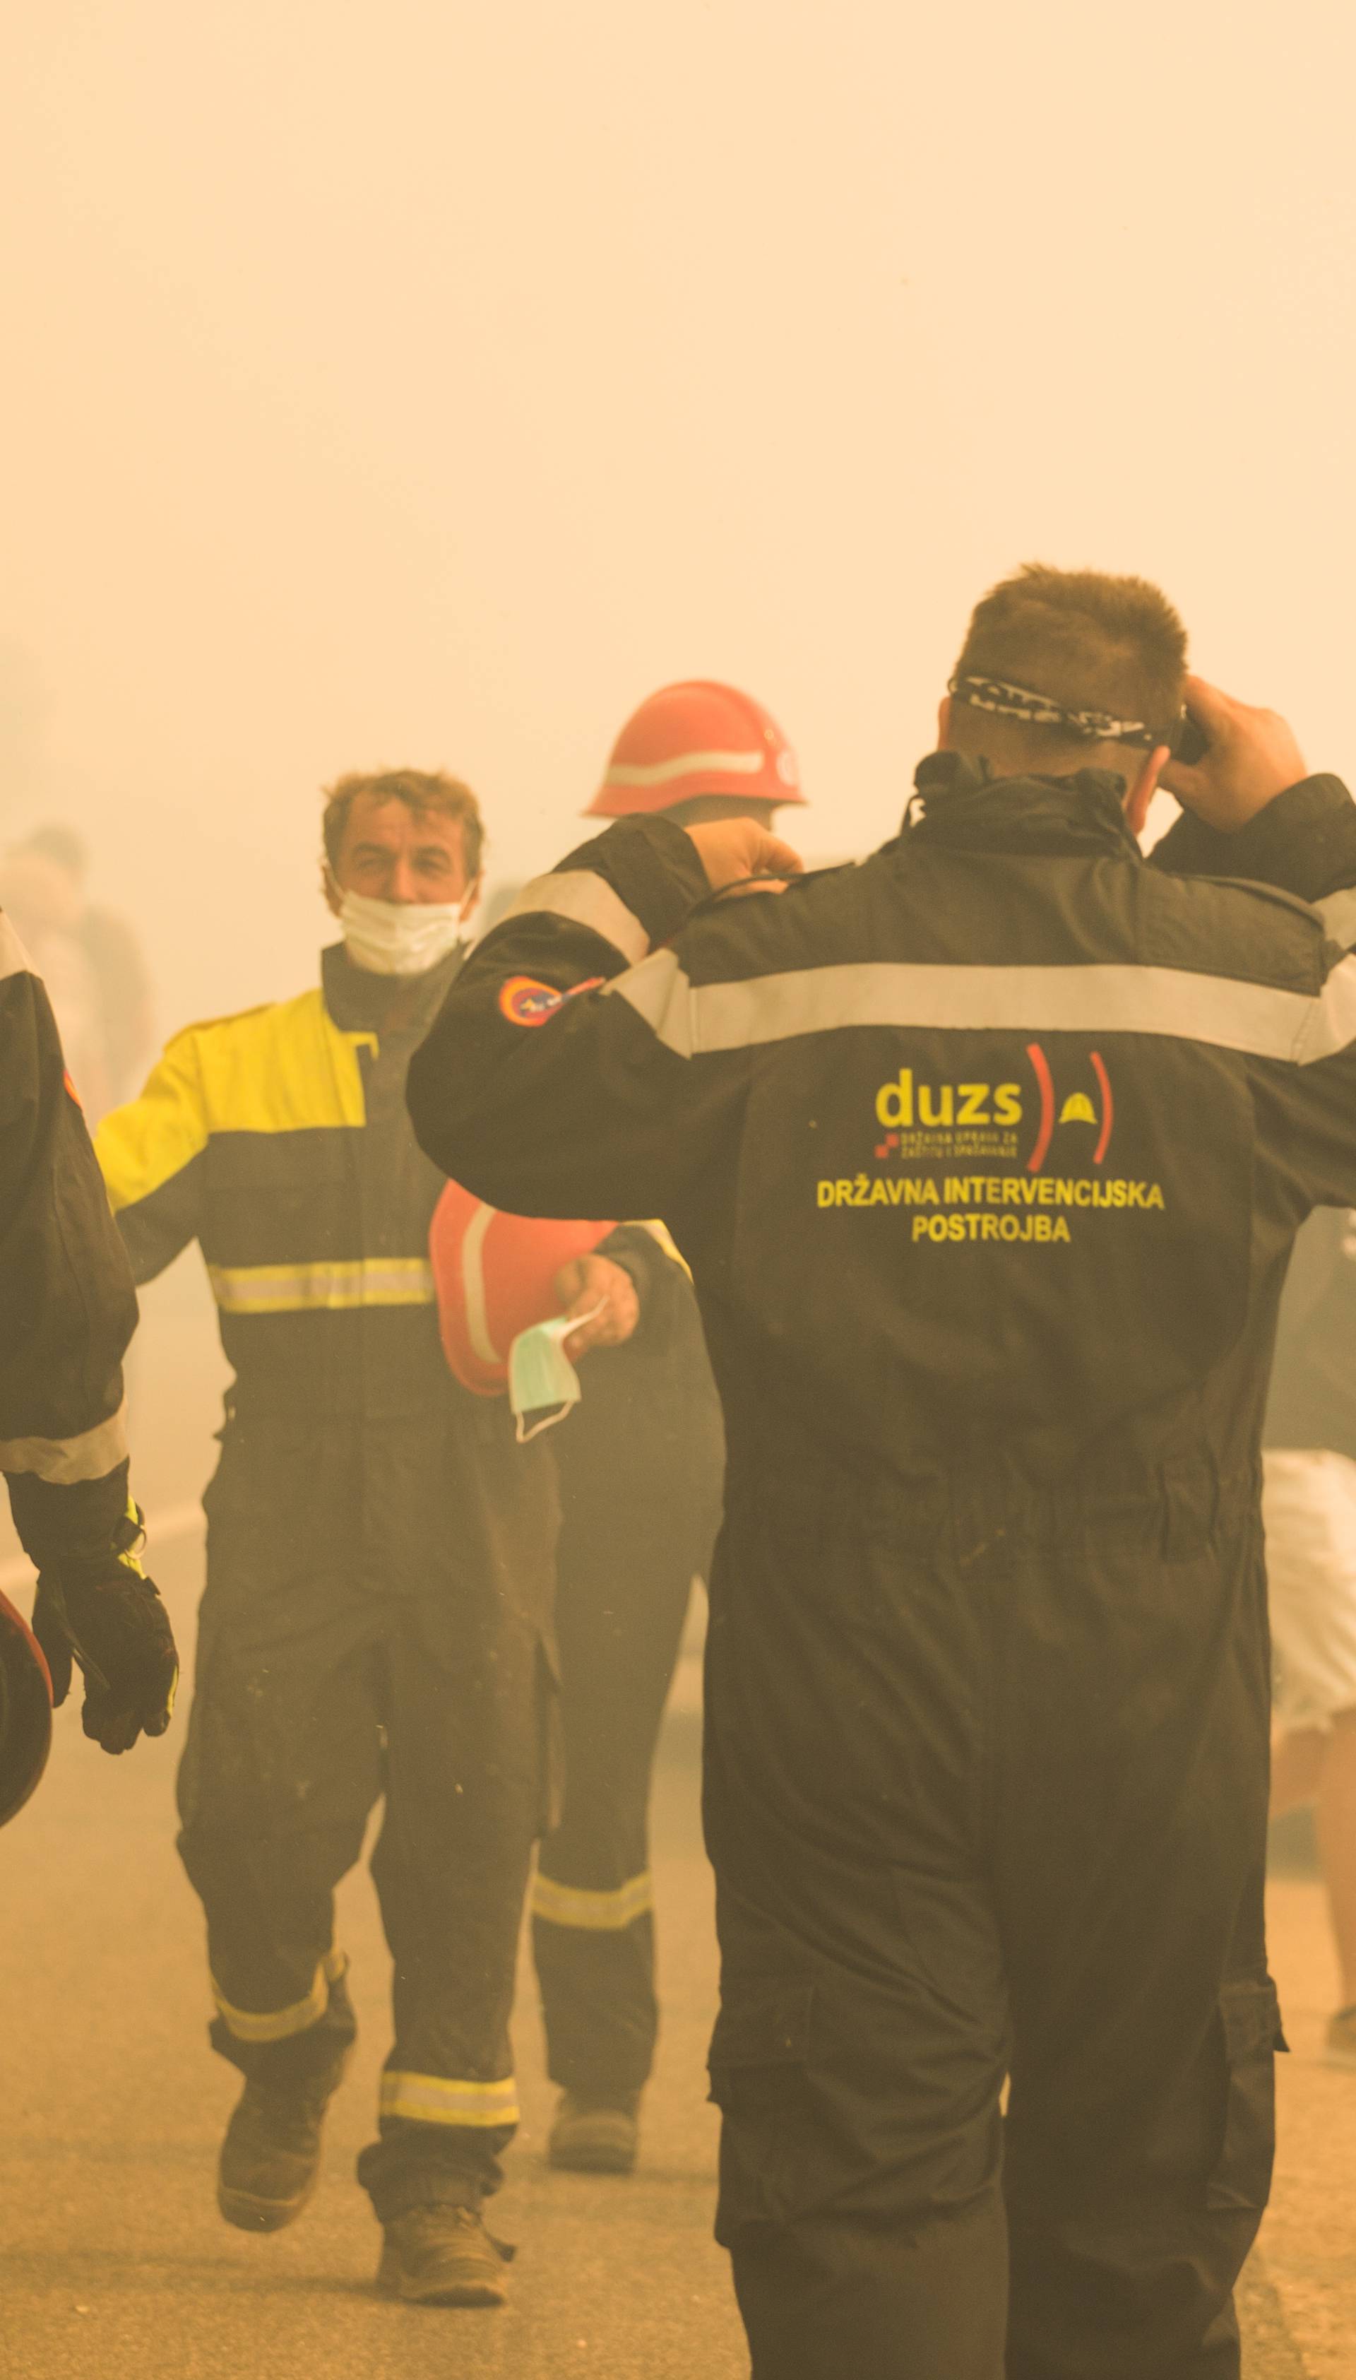
<svg viewBox="0 0 1356 2380">
<path fill-rule="evenodd" d="M 633 1273 L 640 1323 L 588 1357 L 583 1399 L 550 1435 L 564 1806 L 533 1880 L 533 1954 L 552 2080 L 619 2106 L 659 2033 L 649 1773 L 726 1447 L 688 1273 L 638 1226 L 602 1254 Z"/>
</svg>

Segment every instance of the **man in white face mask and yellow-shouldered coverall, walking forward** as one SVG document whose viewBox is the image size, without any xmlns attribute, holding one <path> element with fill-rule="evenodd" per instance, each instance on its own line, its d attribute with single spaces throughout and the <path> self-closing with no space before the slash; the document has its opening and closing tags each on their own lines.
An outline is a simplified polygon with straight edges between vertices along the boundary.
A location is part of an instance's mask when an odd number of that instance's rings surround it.
<svg viewBox="0 0 1356 2380">
<path fill-rule="evenodd" d="M 181 1852 L 207 1911 L 212 2042 L 245 2075 L 219 2206 L 290 2223 L 354 2035 L 333 1887 L 385 1816 L 395 1961 L 381 2137 L 359 2178 L 381 2285 L 497 2304 L 481 2221 L 519 2121 L 509 2009 L 545 1818 L 554 1476 L 452 1380 L 404 1111 L 462 966 L 481 814 L 452 778 L 345 778 L 326 807 L 345 940 L 297 1000 L 190 1026 L 98 1150 L 133 1271 L 197 1240 L 236 1368 L 207 1490 Z"/>
</svg>

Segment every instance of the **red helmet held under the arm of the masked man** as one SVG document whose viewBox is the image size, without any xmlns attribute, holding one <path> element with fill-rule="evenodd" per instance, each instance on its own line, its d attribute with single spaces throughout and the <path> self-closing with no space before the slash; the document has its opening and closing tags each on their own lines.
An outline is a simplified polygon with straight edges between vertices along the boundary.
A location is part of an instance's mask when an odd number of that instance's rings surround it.
<svg viewBox="0 0 1356 2380">
<path fill-rule="evenodd" d="M 561 1314 L 557 1273 L 588 1257 L 614 1223 L 554 1223 L 500 1214 L 447 1183 L 428 1228 L 442 1354 L 462 1388 L 502 1397 L 519 1330 Z"/>
</svg>

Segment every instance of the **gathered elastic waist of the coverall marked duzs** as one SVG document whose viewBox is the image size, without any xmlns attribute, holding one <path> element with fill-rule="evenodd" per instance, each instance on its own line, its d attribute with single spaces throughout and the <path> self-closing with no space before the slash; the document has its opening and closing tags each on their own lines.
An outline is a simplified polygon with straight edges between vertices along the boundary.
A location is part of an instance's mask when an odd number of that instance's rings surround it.
<svg viewBox="0 0 1356 2380">
<path fill-rule="evenodd" d="M 1220 1471 L 1204 1452 L 1156 1464 L 1090 1459 L 1056 1480 L 1023 1476 L 1002 1449 L 992 1459 L 892 1471 L 859 1464 L 842 1447 L 797 1461 L 785 1454 L 730 1464 L 726 1516 L 733 1526 L 776 1504 L 814 1535 L 875 1540 L 925 1549 L 947 1545 L 966 1564 L 999 1545 L 1078 1547 L 1142 1545 L 1168 1561 L 1189 1561 L 1232 1535 L 1256 1511 L 1261 1466 Z"/>
</svg>

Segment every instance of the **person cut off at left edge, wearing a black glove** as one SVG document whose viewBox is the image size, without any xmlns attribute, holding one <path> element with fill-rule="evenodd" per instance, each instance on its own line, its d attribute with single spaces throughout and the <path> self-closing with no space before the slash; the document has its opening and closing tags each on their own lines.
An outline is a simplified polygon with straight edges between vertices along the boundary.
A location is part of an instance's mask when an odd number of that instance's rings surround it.
<svg viewBox="0 0 1356 2380">
<path fill-rule="evenodd" d="M 0 1597 L 0 1821 L 36 1785 L 71 1661 L 83 1730 L 164 1735 L 178 1661 L 136 1559 L 121 1359 L 136 1292 L 40 978 L 0 916 L 0 1471 L 38 1571 L 33 1635 Z"/>
</svg>

